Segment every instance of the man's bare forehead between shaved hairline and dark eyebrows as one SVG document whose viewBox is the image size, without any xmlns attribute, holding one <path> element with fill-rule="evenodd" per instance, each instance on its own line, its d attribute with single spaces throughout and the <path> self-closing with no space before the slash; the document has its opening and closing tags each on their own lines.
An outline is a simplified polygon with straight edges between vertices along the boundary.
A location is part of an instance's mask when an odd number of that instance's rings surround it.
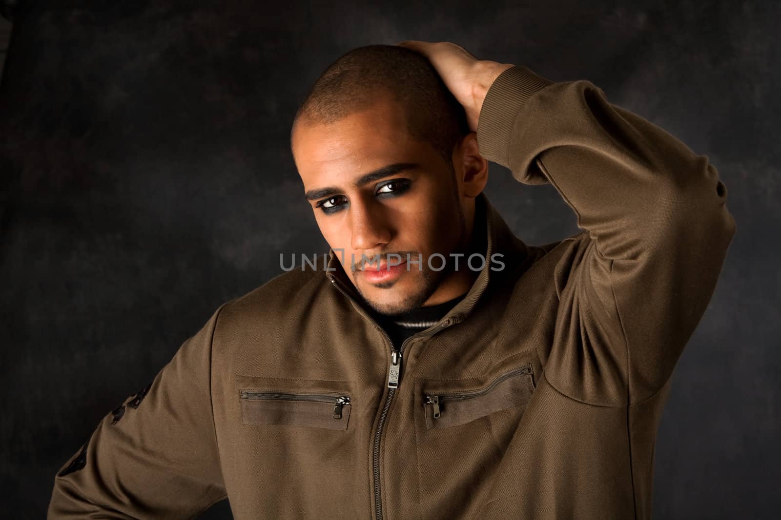
<svg viewBox="0 0 781 520">
<path fill-rule="evenodd" d="M 430 145 L 408 135 L 401 106 L 387 98 L 329 125 L 298 126 L 291 147 L 305 189 L 344 182 L 387 164 L 433 158 Z"/>
</svg>

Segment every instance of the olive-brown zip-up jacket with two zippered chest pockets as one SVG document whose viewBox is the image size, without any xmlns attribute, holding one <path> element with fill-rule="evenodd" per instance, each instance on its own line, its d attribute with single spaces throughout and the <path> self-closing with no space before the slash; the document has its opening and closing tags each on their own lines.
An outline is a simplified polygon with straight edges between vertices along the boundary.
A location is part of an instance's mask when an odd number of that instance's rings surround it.
<svg viewBox="0 0 781 520">
<path fill-rule="evenodd" d="M 587 80 L 506 70 L 480 152 L 583 232 L 487 262 L 398 352 L 333 251 L 219 307 L 55 477 L 49 518 L 651 518 L 673 369 L 735 221 L 708 158 Z"/>
</svg>

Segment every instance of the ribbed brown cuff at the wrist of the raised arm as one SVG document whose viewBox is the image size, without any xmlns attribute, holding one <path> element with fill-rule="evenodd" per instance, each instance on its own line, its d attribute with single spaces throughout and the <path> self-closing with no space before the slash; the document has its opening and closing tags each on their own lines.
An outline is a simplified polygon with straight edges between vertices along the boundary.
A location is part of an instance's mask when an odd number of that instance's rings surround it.
<svg viewBox="0 0 781 520">
<path fill-rule="evenodd" d="M 497 76 L 486 93 L 477 120 L 480 155 L 509 168 L 508 150 L 515 116 L 533 94 L 554 83 L 523 65 L 513 65 Z"/>
</svg>

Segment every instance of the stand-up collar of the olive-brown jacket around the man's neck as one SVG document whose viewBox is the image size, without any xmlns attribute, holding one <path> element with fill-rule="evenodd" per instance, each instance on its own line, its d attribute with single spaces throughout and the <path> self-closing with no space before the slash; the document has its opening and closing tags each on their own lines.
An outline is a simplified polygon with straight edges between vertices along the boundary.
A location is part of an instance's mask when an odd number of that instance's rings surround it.
<svg viewBox="0 0 781 520">
<path fill-rule="evenodd" d="M 466 319 L 469 313 L 472 312 L 477 305 L 480 296 L 488 288 L 492 278 L 497 277 L 497 274 L 501 274 L 501 271 L 512 269 L 515 265 L 518 265 L 522 259 L 528 254 L 528 248 L 520 239 L 513 235 L 512 230 L 508 228 L 504 219 L 497 210 L 488 201 L 488 197 L 485 193 L 480 193 L 475 200 L 475 230 L 478 226 L 482 228 L 484 237 L 486 238 L 483 243 L 485 245 L 485 265 L 477 275 L 477 278 L 473 282 L 471 288 L 466 293 L 464 299 L 458 302 L 458 305 L 453 307 L 448 312 L 439 324 L 446 322 L 449 324 L 455 324 Z M 350 297 L 355 308 L 361 312 L 361 305 L 358 302 L 362 302 L 363 298 L 358 294 L 351 279 L 344 272 L 339 256 L 334 253 L 333 249 L 330 249 L 328 264 L 326 265 L 326 277 L 334 284 L 338 285 L 341 290 Z M 501 270 L 501 264 L 492 262 L 491 259 L 496 258 L 502 264 L 505 264 Z M 466 259 L 464 259 L 466 260 Z M 494 270 L 491 269 L 494 267 Z"/>
</svg>

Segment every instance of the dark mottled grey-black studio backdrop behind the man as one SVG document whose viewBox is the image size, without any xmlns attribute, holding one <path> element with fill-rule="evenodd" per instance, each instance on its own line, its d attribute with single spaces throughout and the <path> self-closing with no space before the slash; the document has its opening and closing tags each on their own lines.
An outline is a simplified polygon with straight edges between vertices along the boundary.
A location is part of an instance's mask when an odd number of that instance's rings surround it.
<svg viewBox="0 0 781 520">
<path fill-rule="evenodd" d="M 220 303 L 280 274 L 280 253 L 326 251 L 288 147 L 295 108 L 350 48 L 417 39 L 592 80 L 719 169 L 737 234 L 676 369 L 654 518 L 777 518 L 778 4 L 4 3 L 5 513 L 41 518 L 102 417 Z M 577 231 L 554 188 L 491 171 L 526 242 Z"/>
</svg>

